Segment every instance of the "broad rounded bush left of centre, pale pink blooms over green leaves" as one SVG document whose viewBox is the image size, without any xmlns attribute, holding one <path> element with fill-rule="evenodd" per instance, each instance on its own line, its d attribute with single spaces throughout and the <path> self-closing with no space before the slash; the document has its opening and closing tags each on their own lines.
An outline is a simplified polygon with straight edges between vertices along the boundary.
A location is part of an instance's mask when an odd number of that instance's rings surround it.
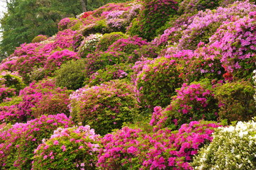
<svg viewBox="0 0 256 170">
<path fill-rule="evenodd" d="M 90 125 L 105 135 L 133 122 L 138 114 L 134 87 L 125 81 L 110 81 L 100 86 L 84 86 L 70 96 L 70 112 L 74 122 Z"/>
</svg>

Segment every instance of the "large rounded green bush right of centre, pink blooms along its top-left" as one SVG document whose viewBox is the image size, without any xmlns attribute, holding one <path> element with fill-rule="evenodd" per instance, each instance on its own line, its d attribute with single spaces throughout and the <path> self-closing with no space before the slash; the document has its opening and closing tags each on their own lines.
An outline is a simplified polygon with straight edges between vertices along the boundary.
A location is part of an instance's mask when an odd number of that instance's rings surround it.
<svg viewBox="0 0 256 170">
<path fill-rule="evenodd" d="M 176 65 L 176 60 L 158 57 L 143 66 L 135 80 L 141 106 L 153 108 L 169 104 L 175 89 L 181 86 Z"/>
</svg>

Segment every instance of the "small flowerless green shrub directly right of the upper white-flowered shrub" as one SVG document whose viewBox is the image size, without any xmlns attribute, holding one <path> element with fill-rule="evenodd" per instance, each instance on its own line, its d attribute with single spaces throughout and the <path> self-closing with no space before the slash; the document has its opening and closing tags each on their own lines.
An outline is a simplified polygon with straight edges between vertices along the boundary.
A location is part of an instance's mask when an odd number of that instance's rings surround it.
<svg viewBox="0 0 256 170">
<path fill-rule="evenodd" d="M 113 33 L 106 33 L 103 37 L 99 40 L 98 44 L 96 45 L 97 51 L 106 51 L 108 47 L 116 42 L 116 40 L 120 38 L 126 38 L 127 35 L 121 32 L 113 32 Z"/>
</svg>

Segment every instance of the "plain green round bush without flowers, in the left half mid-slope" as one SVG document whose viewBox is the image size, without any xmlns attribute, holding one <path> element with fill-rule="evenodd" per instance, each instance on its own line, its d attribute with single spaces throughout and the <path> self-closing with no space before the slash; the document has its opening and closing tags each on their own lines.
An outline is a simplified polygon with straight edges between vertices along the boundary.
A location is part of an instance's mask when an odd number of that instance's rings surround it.
<svg viewBox="0 0 256 170">
<path fill-rule="evenodd" d="M 60 69 L 55 72 L 56 85 L 76 90 L 83 86 L 86 77 L 85 60 L 72 60 L 62 64 Z"/>
</svg>

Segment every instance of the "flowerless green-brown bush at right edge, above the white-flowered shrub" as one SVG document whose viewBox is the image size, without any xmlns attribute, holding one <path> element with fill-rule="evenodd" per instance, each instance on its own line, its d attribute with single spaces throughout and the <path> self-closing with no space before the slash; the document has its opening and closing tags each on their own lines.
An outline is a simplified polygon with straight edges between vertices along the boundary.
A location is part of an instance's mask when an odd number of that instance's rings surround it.
<svg viewBox="0 0 256 170">
<path fill-rule="evenodd" d="M 256 114 L 255 88 L 250 81 L 228 82 L 217 86 L 214 96 L 218 100 L 218 115 L 228 122 L 251 120 Z"/>
</svg>

